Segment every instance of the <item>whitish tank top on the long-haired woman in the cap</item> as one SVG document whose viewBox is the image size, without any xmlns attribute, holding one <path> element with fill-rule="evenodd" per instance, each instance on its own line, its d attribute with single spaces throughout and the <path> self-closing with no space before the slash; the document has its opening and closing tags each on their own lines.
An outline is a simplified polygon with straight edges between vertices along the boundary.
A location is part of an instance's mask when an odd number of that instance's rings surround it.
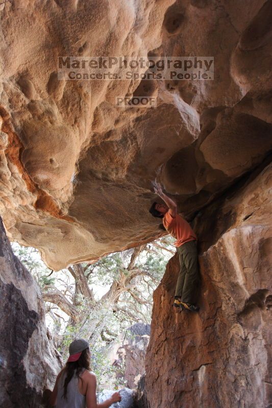
<svg viewBox="0 0 272 408">
<path fill-rule="evenodd" d="M 79 392 L 79 379 L 76 373 L 73 374 L 67 386 L 67 399 L 62 397 L 65 377 L 66 374 L 63 372 L 58 384 L 57 408 L 86 408 L 86 397 Z"/>
</svg>

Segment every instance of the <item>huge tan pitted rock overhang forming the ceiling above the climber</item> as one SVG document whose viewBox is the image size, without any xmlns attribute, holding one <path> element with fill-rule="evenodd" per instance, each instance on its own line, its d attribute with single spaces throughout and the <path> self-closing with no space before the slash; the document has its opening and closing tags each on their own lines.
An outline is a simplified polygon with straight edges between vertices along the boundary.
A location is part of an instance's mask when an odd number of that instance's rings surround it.
<svg viewBox="0 0 272 408">
<path fill-rule="evenodd" d="M 0 214 L 58 270 L 158 236 L 271 148 L 271 1 L 2 2 Z M 58 56 L 214 56 L 214 81 L 58 81 Z M 152 110 L 116 96 L 157 95 Z"/>
</svg>

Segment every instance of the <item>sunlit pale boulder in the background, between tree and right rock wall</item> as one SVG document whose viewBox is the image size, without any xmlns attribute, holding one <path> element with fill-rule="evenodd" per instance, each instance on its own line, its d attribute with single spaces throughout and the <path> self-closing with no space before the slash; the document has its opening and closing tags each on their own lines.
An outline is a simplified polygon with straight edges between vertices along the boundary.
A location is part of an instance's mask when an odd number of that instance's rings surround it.
<svg viewBox="0 0 272 408">
<path fill-rule="evenodd" d="M 150 339 L 150 324 L 136 323 L 122 333 L 110 351 L 110 361 L 118 368 L 118 375 L 127 387 L 137 387 L 145 373 L 145 354 Z"/>
</svg>

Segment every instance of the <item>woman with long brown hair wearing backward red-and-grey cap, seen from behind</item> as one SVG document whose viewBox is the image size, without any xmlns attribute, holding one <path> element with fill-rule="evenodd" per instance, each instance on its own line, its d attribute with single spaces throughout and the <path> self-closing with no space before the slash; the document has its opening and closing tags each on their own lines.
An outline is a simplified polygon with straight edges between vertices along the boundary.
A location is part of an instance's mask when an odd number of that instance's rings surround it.
<svg viewBox="0 0 272 408">
<path fill-rule="evenodd" d="M 69 358 L 57 376 L 50 406 L 57 408 L 108 408 L 121 401 L 118 392 L 102 403 L 96 401 L 96 376 L 90 371 L 90 350 L 86 340 L 74 340 Z"/>
</svg>

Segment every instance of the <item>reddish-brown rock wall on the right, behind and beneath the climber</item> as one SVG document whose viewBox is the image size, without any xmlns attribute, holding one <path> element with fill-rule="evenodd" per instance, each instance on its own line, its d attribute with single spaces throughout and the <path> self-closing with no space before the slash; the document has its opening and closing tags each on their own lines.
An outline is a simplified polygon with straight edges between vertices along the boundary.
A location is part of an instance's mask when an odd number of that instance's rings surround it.
<svg viewBox="0 0 272 408">
<path fill-rule="evenodd" d="M 200 312 L 175 313 L 175 255 L 154 293 L 150 408 L 272 406 L 272 166 L 199 213 Z"/>
</svg>

